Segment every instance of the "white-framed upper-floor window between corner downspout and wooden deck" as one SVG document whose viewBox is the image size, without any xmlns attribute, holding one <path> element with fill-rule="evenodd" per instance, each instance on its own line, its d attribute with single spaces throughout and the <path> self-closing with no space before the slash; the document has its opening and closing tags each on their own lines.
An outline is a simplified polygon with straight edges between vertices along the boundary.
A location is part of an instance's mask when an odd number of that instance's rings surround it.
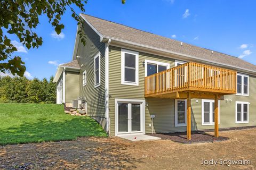
<svg viewBox="0 0 256 170">
<path fill-rule="evenodd" d="M 121 84 L 139 86 L 139 53 L 121 49 Z"/>
</svg>

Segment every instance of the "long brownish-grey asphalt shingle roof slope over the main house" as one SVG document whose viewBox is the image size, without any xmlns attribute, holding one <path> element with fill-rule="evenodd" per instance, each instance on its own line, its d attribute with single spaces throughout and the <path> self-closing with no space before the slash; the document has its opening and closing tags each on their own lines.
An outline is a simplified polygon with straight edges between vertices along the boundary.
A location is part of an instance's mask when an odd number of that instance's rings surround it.
<svg viewBox="0 0 256 170">
<path fill-rule="evenodd" d="M 211 61 L 212 63 L 221 63 L 223 65 L 229 65 L 245 70 L 251 70 L 256 72 L 256 66 L 246 62 L 240 58 L 230 56 L 227 54 L 213 52 L 212 50 L 197 47 L 181 41 L 155 35 L 153 33 L 141 31 L 131 27 L 127 27 L 122 24 L 95 18 L 90 15 L 81 14 L 84 18 L 93 25 L 93 27 L 101 33 L 104 37 L 110 37 L 132 43 L 138 43 L 150 47 L 160 48 L 163 50 L 169 50 L 175 53 L 181 53 L 185 55 L 202 58 L 205 61 Z"/>
</svg>

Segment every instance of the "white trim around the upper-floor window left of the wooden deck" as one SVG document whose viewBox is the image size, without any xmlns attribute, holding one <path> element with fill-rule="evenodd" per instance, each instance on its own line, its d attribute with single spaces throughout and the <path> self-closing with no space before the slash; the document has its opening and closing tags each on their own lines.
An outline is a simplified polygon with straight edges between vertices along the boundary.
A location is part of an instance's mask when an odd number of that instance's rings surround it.
<svg viewBox="0 0 256 170">
<path fill-rule="evenodd" d="M 125 53 L 135 55 L 135 82 L 124 81 Z M 121 84 L 139 86 L 139 52 L 134 52 L 132 50 L 127 50 L 127 49 L 121 49 Z"/>
</svg>

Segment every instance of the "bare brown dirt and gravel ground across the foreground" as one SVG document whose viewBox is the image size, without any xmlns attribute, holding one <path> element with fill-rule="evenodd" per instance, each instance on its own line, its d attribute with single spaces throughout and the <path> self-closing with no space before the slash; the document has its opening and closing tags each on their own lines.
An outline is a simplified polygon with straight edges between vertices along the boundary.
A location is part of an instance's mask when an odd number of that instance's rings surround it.
<svg viewBox="0 0 256 170">
<path fill-rule="evenodd" d="M 184 145 L 170 140 L 79 138 L 7 145 L 0 147 L 0 169 L 256 169 L 256 128 L 220 135 L 230 140 Z M 246 159 L 251 165 L 201 165 L 202 159 Z"/>
</svg>

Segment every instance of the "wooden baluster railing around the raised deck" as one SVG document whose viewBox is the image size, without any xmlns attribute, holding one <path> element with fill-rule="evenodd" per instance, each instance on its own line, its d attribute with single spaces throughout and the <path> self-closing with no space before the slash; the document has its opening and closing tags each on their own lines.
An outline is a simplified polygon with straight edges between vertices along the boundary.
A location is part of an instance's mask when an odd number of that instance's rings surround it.
<svg viewBox="0 0 256 170">
<path fill-rule="evenodd" d="M 176 91 L 236 93 L 236 71 L 220 67 L 185 63 L 145 78 L 145 97 Z"/>
</svg>

